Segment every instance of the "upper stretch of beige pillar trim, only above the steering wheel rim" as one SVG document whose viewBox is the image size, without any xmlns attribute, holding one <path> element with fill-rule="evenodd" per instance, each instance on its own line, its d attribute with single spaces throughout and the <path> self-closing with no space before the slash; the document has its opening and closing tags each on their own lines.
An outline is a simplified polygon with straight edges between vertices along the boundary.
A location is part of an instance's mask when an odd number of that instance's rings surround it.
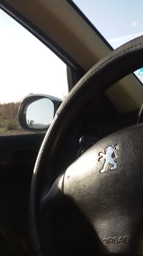
<svg viewBox="0 0 143 256">
<path fill-rule="evenodd" d="M 95 36 L 93 29 L 65 0 L 7 0 L 7 2 L 12 3 L 16 10 L 20 10 L 28 20 L 58 42 L 59 46 L 85 70 L 110 52 L 101 38 Z M 90 62 L 87 59 L 90 59 Z"/>
</svg>

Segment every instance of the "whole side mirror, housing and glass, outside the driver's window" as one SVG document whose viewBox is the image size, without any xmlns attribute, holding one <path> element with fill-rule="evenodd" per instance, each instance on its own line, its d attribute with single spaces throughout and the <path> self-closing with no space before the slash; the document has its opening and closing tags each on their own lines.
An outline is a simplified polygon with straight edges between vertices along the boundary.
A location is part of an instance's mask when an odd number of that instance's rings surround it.
<svg viewBox="0 0 143 256">
<path fill-rule="evenodd" d="M 61 99 L 45 94 L 29 94 L 19 106 L 19 124 L 25 130 L 45 131 L 52 123 Z"/>
</svg>

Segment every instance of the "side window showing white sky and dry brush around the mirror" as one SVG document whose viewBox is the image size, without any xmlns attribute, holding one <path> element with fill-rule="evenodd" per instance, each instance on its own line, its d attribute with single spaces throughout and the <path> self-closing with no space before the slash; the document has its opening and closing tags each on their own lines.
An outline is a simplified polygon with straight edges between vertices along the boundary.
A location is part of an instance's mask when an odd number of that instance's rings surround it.
<svg viewBox="0 0 143 256">
<path fill-rule="evenodd" d="M 18 123 L 19 102 L 27 94 L 68 94 L 66 65 L 0 9 L 0 135 L 29 133 Z"/>
</svg>

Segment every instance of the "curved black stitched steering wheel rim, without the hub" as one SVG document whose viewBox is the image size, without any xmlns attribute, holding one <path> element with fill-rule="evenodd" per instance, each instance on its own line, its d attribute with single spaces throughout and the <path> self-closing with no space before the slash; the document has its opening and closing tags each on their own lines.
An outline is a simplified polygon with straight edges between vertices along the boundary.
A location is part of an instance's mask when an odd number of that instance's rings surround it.
<svg viewBox="0 0 143 256">
<path fill-rule="evenodd" d="M 65 135 L 81 114 L 82 109 L 93 97 L 98 96 L 99 93 L 110 88 L 118 80 L 141 68 L 143 65 L 142 57 L 143 36 L 124 44 L 93 66 L 70 91 L 56 112 L 36 160 L 30 193 L 30 231 L 33 249 L 38 255 L 44 255 L 38 226 L 41 196 L 39 188 L 41 182 L 48 183 L 44 192 L 46 194 L 59 177 L 59 172 L 56 172 L 55 168 Z M 55 255 L 54 252 L 53 255 Z"/>
</svg>

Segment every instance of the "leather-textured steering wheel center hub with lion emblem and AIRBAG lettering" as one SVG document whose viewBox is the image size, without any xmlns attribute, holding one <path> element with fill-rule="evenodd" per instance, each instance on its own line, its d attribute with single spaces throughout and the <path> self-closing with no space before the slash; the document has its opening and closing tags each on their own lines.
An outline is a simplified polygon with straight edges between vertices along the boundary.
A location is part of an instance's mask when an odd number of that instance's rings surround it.
<svg viewBox="0 0 143 256">
<path fill-rule="evenodd" d="M 110 252 L 132 250 L 141 228 L 142 148 L 143 125 L 128 127 L 93 145 L 65 172 L 64 194 Z"/>
</svg>

